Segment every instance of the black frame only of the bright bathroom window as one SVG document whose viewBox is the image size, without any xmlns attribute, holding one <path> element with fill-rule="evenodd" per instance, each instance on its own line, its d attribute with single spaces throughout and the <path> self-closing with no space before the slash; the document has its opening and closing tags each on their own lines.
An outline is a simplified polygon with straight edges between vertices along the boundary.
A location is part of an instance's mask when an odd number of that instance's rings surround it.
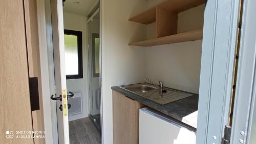
<svg viewBox="0 0 256 144">
<path fill-rule="evenodd" d="M 73 30 L 64 30 L 65 35 L 77 36 L 77 57 L 78 57 L 78 75 L 66 75 L 66 79 L 82 79 L 82 32 Z"/>
</svg>

